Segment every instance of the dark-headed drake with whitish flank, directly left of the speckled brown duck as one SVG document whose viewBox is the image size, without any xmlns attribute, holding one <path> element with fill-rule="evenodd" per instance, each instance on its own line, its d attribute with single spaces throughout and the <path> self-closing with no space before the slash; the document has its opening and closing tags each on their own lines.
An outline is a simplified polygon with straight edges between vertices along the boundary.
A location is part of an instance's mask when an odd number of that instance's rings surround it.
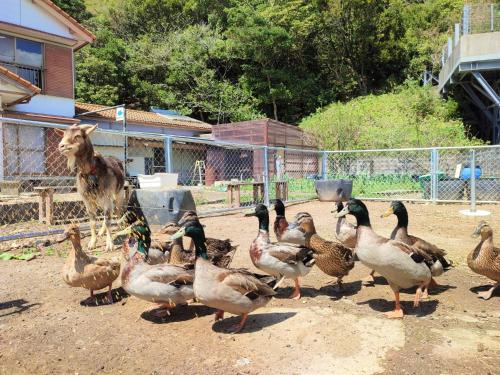
<svg viewBox="0 0 500 375">
<path fill-rule="evenodd" d="M 281 278 L 293 279 L 295 288 L 291 298 L 300 298 L 299 277 L 307 275 L 314 265 L 313 252 L 302 246 L 288 243 L 271 243 L 269 240 L 269 212 L 263 204 L 245 216 L 257 216 L 259 233 L 250 246 L 250 258 L 255 267 Z M 281 282 L 281 280 L 280 280 Z"/>
</svg>

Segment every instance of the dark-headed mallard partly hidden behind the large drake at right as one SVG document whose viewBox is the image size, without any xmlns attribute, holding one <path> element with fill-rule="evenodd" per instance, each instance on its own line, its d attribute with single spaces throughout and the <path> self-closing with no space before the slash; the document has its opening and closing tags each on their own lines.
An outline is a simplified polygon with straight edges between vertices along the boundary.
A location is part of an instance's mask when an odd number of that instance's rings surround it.
<svg viewBox="0 0 500 375">
<path fill-rule="evenodd" d="M 396 215 L 396 217 L 398 218 L 398 223 L 391 233 L 391 240 L 401 241 L 407 245 L 416 247 L 417 249 L 431 256 L 434 262 L 439 261 L 442 268 L 449 268 L 451 266 L 450 262 L 445 259 L 445 250 L 440 249 L 436 245 L 433 245 L 419 237 L 408 234 L 408 211 L 406 210 L 403 202 L 391 202 L 391 206 L 386 213 L 381 215 L 381 217 L 387 217 L 392 214 Z"/>
</svg>

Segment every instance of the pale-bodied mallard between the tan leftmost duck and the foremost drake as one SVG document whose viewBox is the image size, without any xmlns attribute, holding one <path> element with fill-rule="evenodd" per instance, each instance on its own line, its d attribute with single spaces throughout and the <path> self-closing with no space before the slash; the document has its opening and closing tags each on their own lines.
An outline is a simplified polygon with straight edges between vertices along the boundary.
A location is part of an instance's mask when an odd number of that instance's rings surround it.
<svg viewBox="0 0 500 375">
<path fill-rule="evenodd" d="M 194 268 L 191 264 L 148 264 L 147 250 L 134 243 L 134 237 L 123 243 L 122 287 L 127 293 L 160 305 L 154 315 L 170 315 L 170 310 L 194 298 Z M 132 246 L 129 246 L 129 243 Z"/>
</svg>

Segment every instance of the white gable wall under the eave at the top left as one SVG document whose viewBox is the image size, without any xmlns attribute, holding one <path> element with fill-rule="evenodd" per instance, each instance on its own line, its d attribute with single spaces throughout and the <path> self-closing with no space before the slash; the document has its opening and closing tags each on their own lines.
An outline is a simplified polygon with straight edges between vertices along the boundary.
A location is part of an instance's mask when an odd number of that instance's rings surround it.
<svg viewBox="0 0 500 375">
<path fill-rule="evenodd" d="M 67 26 L 32 0 L 0 0 L 0 21 L 75 39 Z"/>
</svg>

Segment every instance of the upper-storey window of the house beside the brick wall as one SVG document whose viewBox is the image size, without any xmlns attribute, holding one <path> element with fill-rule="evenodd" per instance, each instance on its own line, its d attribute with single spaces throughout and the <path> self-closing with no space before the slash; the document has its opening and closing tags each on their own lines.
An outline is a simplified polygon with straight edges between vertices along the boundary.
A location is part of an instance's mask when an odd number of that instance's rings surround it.
<svg viewBox="0 0 500 375">
<path fill-rule="evenodd" d="M 0 34 L 0 65 L 42 88 L 42 43 Z"/>
</svg>

